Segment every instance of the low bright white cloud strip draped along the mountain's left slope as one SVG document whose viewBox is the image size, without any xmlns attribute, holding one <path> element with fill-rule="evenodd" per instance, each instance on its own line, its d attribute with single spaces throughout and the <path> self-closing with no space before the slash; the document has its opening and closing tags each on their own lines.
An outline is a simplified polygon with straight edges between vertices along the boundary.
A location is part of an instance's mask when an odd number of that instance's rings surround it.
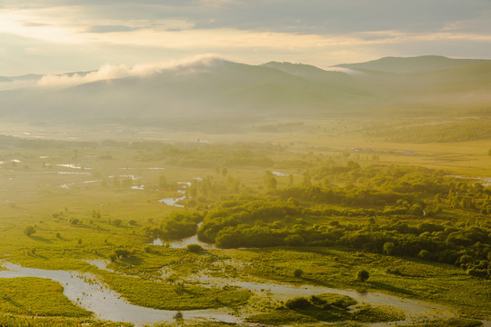
<svg viewBox="0 0 491 327">
<path fill-rule="evenodd" d="M 41 87 L 66 87 L 77 84 L 112 80 L 124 77 L 145 77 L 163 71 L 174 71 L 177 74 L 191 74 L 196 66 L 214 64 L 218 59 L 215 54 L 190 56 L 179 60 L 171 60 L 153 64 L 104 64 L 94 72 L 75 74 L 46 74 L 38 82 Z"/>
</svg>

